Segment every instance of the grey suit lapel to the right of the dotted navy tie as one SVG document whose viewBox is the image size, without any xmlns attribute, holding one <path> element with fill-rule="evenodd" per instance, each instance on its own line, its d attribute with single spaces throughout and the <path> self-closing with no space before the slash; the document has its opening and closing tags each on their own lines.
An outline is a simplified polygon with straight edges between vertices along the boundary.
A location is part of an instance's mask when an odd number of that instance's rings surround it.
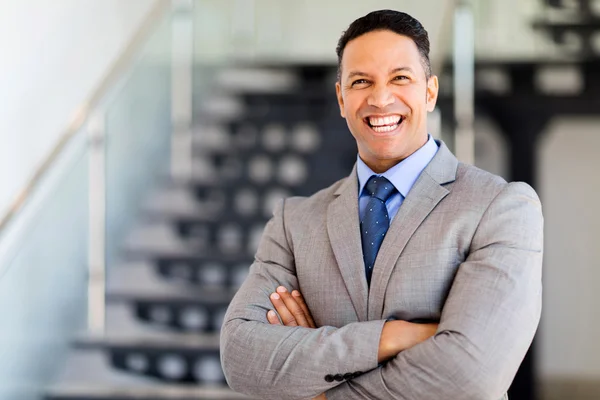
<svg viewBox="0 0 600 400">
<path fill-rule="evenodd" d="M 369 320 L 383 318 L 385 291 L 400 254 L 423 220 L 450 193 L 441 185 L 456 179 L 458 160 L 443 142 L 439 144 L 438 152 L 404 199 L 377 254 L 369 292 Z"/>
</svg>

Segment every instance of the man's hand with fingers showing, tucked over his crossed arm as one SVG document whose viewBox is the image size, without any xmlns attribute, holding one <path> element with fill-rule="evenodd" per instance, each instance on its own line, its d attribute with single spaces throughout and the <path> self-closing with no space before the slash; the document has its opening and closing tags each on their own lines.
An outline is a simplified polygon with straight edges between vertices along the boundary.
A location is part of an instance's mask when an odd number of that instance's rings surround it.
<svg viewBox="0 0 600 400">
<path fill-rule="evenodd" d="M 299 291 L 294 290 L 290 293 L 285 287 L 279 286 L 277 292 L 271 294 L 270 299 L 277 314 L 281 317 L 283 325 L 303 326 L 305 328 L 317 327 Z M 267 320 L 271 325 L 281 325 L 277 314 L 273 310 L 267 313 Z"/>
</svg>

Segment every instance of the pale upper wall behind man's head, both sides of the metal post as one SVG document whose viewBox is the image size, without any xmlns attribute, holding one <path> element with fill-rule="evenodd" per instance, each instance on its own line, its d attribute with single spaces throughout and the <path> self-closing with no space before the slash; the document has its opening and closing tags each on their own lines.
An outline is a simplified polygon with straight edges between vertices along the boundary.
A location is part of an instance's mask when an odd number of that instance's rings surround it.
<svg viewBox="0 0 600 400">
<path fill-rule="evenodd" d="M 335 63 L 342 31 L 370 11 L 391 8 L 423 23 L 432 58 L 451 52 L 452 0 L 195 0 L 196 57 Z M 539 0 L 470 0 L 475 14 L 477 57 L 531 59 L 553 57 L 552 42 L 532 24 L 547 14 Z M 452 17 L 452 13 L 450 13 Z"/>
</svg>

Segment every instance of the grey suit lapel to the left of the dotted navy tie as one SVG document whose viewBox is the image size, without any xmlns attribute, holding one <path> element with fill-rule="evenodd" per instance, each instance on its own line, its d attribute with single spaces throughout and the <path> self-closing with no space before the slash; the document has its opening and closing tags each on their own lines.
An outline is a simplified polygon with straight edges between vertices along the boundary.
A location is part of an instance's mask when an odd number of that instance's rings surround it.
<svg viewBox="0 0 600 400">
<path fill-rule="evenodd" d="M 335 195 L 327 209 L 327 232 L 358 320 L 366 321 L 368 289 L 360 242 L 356 166 Z"/>
</svg>

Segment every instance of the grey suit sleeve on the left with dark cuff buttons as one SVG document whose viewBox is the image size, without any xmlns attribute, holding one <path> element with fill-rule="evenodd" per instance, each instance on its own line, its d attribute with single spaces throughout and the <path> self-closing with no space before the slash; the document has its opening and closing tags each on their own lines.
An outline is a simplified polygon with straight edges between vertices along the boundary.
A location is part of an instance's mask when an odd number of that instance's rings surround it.
<svg viewBox="0 0 600 400">
<path fill-rule="evenodd" d="M 384 324 L 357 322 L 339 329 L 269 324 L 269 295 L 279 285 L 298 289 L 284 204 L 267 223 L 249 276 L 229 305 L 221 330 L 221 364 L 228 384 L 261 399 L 312 398 L 340 384 L 328 382 L 327 375 L 376 368 Z"/>
</svg>

